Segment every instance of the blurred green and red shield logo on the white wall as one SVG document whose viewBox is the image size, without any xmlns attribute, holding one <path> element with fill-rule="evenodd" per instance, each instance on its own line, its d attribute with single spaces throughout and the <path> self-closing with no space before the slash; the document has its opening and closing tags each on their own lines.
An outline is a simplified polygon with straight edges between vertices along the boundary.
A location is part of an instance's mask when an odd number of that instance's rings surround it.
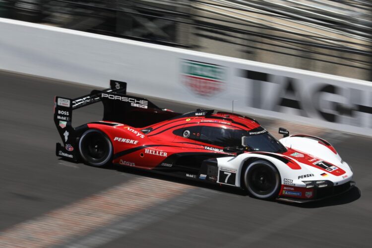
<svg viewBox="0 0 372 248">
<path fill-rule="evenodd" d="M 225 88 L 225 67 L 188 60 L 182 60 L 181 66 L 181 81 L 195 94 L 209 97 Z"/>
</svg>

